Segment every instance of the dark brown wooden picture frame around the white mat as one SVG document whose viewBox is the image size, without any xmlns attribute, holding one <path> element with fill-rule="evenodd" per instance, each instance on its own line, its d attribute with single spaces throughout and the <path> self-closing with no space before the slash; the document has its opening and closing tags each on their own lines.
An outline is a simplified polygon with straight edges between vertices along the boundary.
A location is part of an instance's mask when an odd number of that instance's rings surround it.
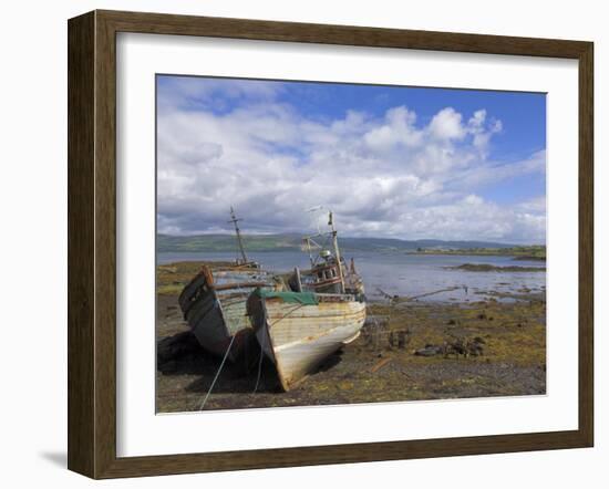
<svg viewBox="0 0 609 489">
<path fill-rule="evenodd" d="M 244 451 L 116 456 L 116 33 L 574 59 L 579 63 L 579 426 Z M 69 21 L 68 466 L 93 478 L 591 447 L 593 443 L 593 45 L 497 35 L 93 11 Z"/>
</svg>

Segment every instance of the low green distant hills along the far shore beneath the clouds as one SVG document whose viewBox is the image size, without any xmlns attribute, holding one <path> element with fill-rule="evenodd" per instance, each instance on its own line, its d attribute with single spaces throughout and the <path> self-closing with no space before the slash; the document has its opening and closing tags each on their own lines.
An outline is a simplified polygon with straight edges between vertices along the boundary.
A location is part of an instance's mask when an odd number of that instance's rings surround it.
<svg viewBox="0 0 609 489">
<path fill-rule="evenodd" d="M 300 250 L 301 235 L 244 235 L 247 251 L 296 251 Z M 513 245 L 486 241 L 442 241 L 422 239 L 406 241 L 385 238 L 339 238 L 344 251 L 416 251 L 417 249 L 472 249 L 509 248 Z M 237 240 L 234 235 L 169 236 L 157 235 L 158 252 L 235 251 Z"/>
</svg>

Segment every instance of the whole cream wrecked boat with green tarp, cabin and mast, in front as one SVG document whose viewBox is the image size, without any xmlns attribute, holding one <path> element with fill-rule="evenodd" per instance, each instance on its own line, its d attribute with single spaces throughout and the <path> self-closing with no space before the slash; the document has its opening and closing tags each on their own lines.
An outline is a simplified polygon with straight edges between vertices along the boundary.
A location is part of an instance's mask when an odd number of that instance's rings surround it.
<svg viewBox="0 0 609 489">
<path fill-rule="evenodd" d="M 311 269 L 295 269 L 288 279 L 290 290 L 258 288 L 247 302 L 258 343 L 275 364 L 285 391 L 355 340 L 365 322 L 363 282 L 354 264 L 348 269 L 340 256 L 331 212 L 329 226 L 329 232 L 303 239 Z M 333 253 L 314 241 L 323 236 L 332 241 Z M 316 257 L 311 245 L 321 248 Z"/>
</svg>

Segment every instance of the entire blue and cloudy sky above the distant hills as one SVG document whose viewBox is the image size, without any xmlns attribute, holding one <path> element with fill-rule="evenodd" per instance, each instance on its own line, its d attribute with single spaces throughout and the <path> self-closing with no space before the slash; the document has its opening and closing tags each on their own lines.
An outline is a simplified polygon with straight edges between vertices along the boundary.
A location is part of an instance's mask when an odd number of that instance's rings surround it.
<svg viewBox="0 0 609 489">
<path fill-rule="evenodd" d="M 543 94 L 157 76 L 157 229 L 544 243 Z"/>
</svg>

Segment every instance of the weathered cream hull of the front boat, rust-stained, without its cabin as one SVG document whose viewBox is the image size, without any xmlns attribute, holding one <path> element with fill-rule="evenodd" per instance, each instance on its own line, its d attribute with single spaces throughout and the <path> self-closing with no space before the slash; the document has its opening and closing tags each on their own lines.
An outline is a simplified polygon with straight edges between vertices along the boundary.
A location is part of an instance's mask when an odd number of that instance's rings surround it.
<svg viewBox="0 0 609 489">
<path fill-rule="evenodd" d="M 317 294 L 318 304 L 251 295 L 249 314 L 262 351 L 275 363 L 289 391 L 313 373 L 344 344 L 353 341 L 365 321 L 365 303 Z M 332 299 L 332 300 L 330 300 Z"/>
</svg>

